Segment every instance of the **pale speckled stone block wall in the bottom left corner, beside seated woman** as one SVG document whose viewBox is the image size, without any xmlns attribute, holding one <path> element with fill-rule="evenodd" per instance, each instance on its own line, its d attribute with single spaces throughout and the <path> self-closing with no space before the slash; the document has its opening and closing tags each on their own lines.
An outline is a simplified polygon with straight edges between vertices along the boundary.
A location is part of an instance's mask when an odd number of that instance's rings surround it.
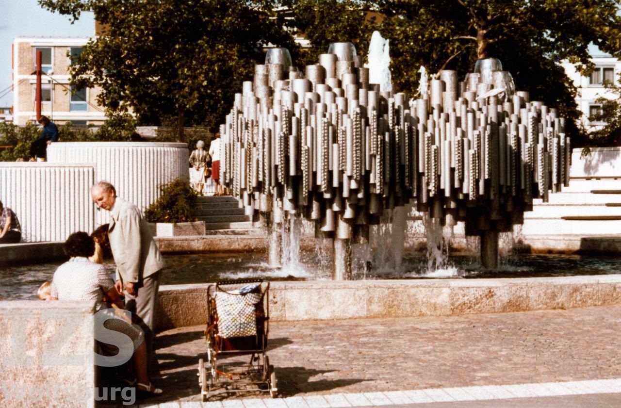
<svg viewBox="0 0 621 408">
<path fill-rule="evenodd" d="M 0 406 L 94 406 L 93 306 L 0 301 Z"/>
</svg>

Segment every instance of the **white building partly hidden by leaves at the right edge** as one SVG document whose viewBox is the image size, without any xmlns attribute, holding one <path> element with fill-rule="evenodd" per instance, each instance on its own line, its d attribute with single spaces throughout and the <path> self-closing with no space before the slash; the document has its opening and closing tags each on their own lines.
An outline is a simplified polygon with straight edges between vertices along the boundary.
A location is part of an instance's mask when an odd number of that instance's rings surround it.
<svg viewBox="0 0 621 408">
<path fill-rule="evenodd" d="M 568 62 L 564 62 L 563 68 L 569 78 L 573 80 L 578 88 L 576 103 L 578 109 L 582 111 L 581 122 L 587 130 L 594 130 L 602 127 L 604 123 L 589 120 L 589 117 L 596 114 L 601 109 L 601 104 L 597 102 L 599 97 L 617 97 L 605 88 L 605 82 L 619 84 L 619 74 L 621 73 L 621 60 L 610 57 L 604 53 L 596 53 L 591 58 L 596 66 L 595 71 L 590 76 L 583 76 L 576 71 L 576 67 Z"/>
</svg>

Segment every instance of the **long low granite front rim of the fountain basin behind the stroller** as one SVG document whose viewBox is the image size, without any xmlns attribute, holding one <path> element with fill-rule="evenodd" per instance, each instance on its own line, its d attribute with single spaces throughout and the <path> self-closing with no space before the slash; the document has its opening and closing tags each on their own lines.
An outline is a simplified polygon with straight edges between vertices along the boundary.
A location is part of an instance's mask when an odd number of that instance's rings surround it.
<svg viewBox="0 0 621 408">
<path fill-rule="evenodd" d="M 208 284 L 160 287 L 156 327 L 207 321 Z M 446 316 L 621 304 L 621 274 L 517 279 L 272 282 L 271 320 Z"/>
</svg>

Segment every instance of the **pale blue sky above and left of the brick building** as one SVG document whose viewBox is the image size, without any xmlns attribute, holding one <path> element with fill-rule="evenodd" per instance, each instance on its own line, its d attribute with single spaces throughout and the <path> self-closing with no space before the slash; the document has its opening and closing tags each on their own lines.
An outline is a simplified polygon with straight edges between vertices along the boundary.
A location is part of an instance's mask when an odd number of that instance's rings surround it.
<svg viewBox="0 0 621 408">
<path fill-rule="evenodd" d="M 11 45 L 14 37 L 93 37 L 93 13 L 82 13 L 71 24 L 66 16 L 49 12 L 37 0 L 0 0 L 0 95 L 11 85 Z M 0 106 L 12 106 L 13 93 L 0 97 Z"/>
</svg>

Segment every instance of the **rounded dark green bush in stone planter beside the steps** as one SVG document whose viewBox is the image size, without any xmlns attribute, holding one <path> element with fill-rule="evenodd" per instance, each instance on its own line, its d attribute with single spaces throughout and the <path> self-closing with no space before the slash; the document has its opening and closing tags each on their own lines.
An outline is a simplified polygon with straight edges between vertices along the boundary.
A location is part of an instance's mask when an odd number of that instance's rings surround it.
<svg viewBox="0 0 621 408">
<path fill-rule="evenodd" d="M 187 180 L 178 178 L 161 187 L 161 196 L 145 210 L 148 222 L 191 222 L 197 194 Z"/>
</svg>

